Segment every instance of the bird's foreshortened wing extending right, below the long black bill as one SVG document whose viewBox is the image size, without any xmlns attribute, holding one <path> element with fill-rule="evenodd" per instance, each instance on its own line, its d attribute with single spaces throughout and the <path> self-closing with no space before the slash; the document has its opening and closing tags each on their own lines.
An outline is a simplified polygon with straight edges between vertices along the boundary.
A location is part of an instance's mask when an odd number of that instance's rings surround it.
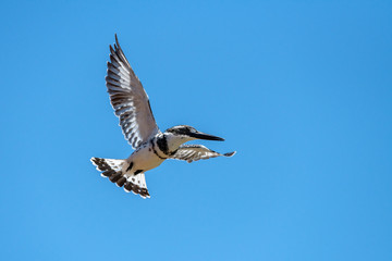
<svg viewBox="0 0 392 261">
<path fill-rule="evenodd" d="M 219 156 L 232 157 L 233 154 L 235 154 L 235 151 L 221 154 L 203 145 L 182 145 L 179 150 L 170 157 L 170 159 L 185 160 L 191 163 L 193 161 L 207 160 Z"/>
</svg>

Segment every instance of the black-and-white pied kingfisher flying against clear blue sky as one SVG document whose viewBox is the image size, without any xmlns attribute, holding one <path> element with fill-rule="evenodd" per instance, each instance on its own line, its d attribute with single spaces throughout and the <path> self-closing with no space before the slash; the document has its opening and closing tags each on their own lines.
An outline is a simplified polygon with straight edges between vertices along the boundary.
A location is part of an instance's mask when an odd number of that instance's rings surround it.
<svg viewBox="0 0 392 261">
<path fill-rule="evenodd" d="M 113 47 L 109 45 L 110 61 L 107 63 L 106 86 L 123 135 L 134 151 L 123 160 L 91 158 L 91 163 L 101 172 L 102 177 L 108 177 L 126 192 L 150 198 L 145 173 L 163 161 L 175 159 L 191 163 L 235 154 L 236 151 L 219 153 L 203 145 L 185 145 L 195 139 L 224 140 L 188 125 L 173 126 L 162 133 L 154 117 L 148 95 L 125 58 L 117 34 L 114 38 Z"/>
</svg>

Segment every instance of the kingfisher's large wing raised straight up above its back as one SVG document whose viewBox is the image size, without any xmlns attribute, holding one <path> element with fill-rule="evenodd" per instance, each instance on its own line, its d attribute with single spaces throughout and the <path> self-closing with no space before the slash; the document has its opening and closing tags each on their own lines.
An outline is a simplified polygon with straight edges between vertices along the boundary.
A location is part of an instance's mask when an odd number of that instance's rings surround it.
<svg viewBox="0 0 392 261">
<path fill-rule="evenodd" d="M 126 60 L 115 35 L 110 46 L 110 62 L 106 77 L 110 102 L 125 139 L 135 149 L 159 132 L 148 96 Z"/>
</svg>

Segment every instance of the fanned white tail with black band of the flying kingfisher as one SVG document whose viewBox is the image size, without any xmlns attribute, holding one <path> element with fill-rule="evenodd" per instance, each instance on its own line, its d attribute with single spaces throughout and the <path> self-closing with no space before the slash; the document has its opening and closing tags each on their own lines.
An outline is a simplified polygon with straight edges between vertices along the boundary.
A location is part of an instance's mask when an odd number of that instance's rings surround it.
<svg viewBox="0 0 392 261">
<path fill-rule="evenodd" d="M 150 197 L 147 190 L 145 174 L 138 173 L 135 175 L 125 173 L 123 171 L 123 166 L 126 163 L 125 160 L 91 158 L 91 162 L 97 166 L 97 171 L 102 172 L 102 177 L 109 177 L 119 187 L 124 186 L 126 192 L 139 194 L 142 198 Z"/>
</svg>

